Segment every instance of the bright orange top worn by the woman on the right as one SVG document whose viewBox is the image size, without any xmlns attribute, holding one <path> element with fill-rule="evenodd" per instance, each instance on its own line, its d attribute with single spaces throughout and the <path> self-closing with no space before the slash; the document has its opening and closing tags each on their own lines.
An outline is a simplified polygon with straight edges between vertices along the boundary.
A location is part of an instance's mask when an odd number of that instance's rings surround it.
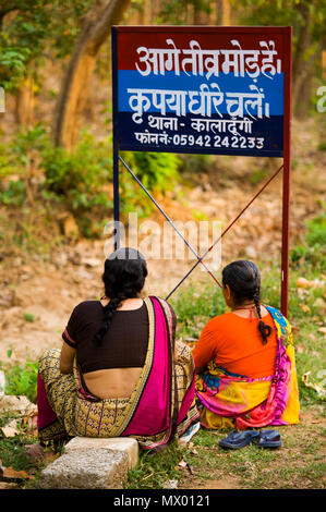
<svg viewBox="0 0 326 512">
<path fill-rule="evenodd" d="M 193 350 L 196 368 L 204 368 L 215 358 L 218 366 L 233 374 L 252 378 L 274 375 L 276 332 L 269 313 L 263 320 L 273 328 L 265 345 L 258 330 L 258 318 L 243 318 L 234 313 L 212 318 Z"/>
</svg>

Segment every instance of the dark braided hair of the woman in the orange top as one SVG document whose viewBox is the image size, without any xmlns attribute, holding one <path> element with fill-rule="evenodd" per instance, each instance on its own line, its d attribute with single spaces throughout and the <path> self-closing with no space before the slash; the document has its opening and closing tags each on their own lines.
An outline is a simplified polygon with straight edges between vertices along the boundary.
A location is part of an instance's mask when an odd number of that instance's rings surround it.
<svg viewBox="0 0 326 512">
<path fill-rule="evenodd" d="M 227 265 L 222 270 L 222 284 L 230 287 L 236 305 L 245 301 L 253 301 L 259 318 L 258 330 L 262 343 L 267 343 L 271 333 L 271 327 L 265 324 L 261 313 L 261 275 L 257 267 L 245 259 L 240 259 Z"/>
</svg>

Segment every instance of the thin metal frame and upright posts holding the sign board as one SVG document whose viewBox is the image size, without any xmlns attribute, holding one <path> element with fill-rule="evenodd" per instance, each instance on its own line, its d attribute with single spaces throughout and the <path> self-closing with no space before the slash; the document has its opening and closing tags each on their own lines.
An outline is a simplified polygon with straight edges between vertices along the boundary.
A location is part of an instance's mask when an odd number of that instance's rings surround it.
<svg viewBox="0 0 326 512">
<path fill-rule="evenodd" d="M 282 37 L 282 69 L 283 69 L 283 95 L 282 95 L 282 155 L 275 156 L 275 158 L 282 158 L 282 223 L 281 223 L 281 296 L 280 309 L 285 316 L 288 316 L 288 288 L 289 288 L 289 237 L 290 237 L 290 171 L 291 171 L 291 93 L 292 93 L 292 27 L 291 26 L 112 26 L 111 28 L 111 42 L 112 42 L 112 102 L 113 102 L 113 217 L 117 221 L 117 230 L 119 230 L 120 220 L 120 199 L 119 199 L 119 90 L 118 90 L 118 52 L 119 52 L 119 35 L 125 33 L 140 34 L 157 34 L 157 33 L 173 33 L 186 34 L 220 34 L 232 35 L 232 37 L 241 34 L 252 34 L 253 37 L 266 36 L 276 34 Z M 287 58 L 286 58 L 287 57 Z M 125 150 L 125 149 L 123 149 Z M 129 150 L 129 149 L 126 149 Z M 217 155 L 225 153 L 209 153 L 205 151 L 191 151 L 191 150 L 169 150 L 162 149 L 136 149 L 130 150 L 156 150 L 160 153 L 188 153 L 207 155 Z M 252 156 L 247 154 L 237 154 L 242 156 Z M 269 155 L 261 155 L 261 157 L 269 157 Z M 116 248 L 119 246 L 120 234 L 116 233 Z"/>
</svg>

